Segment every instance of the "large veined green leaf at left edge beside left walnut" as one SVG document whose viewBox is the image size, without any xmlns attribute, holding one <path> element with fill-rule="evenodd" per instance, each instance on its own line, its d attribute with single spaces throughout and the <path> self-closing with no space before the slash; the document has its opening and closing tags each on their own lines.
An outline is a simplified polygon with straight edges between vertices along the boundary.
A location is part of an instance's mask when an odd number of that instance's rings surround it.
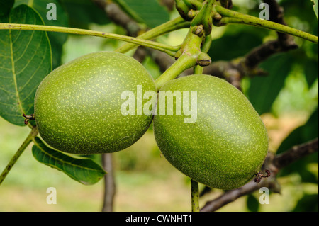
<svg viewBox="0 0 319 226">
<path fill-rule="evenodd" d="M 14 8 L 0 21 L 43 25 L 38 13 L 26 5 Z M 47 33 L 0 30 L 0 116 L 24 125 L 22 114 L 33 113 L 35 91 L 51 67 Z"/>
</svg>

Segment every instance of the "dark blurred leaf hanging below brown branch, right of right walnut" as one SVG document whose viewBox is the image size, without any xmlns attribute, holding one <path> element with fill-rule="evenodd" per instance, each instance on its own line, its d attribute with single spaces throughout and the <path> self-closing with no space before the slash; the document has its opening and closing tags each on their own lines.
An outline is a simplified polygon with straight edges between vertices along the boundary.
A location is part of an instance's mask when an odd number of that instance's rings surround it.
<svg viewBox="0 0 319 226">
<path fill-rule="evenodd" d="M 250 79 L 248 96 L 252 106 L 259 115 L 270 112 L 272 104 L 284 86 L 286 77 L 291 72 L 292 57 L 290 54 L 279 54 L 260 64 L 267 76 Z"/>
</svg>

